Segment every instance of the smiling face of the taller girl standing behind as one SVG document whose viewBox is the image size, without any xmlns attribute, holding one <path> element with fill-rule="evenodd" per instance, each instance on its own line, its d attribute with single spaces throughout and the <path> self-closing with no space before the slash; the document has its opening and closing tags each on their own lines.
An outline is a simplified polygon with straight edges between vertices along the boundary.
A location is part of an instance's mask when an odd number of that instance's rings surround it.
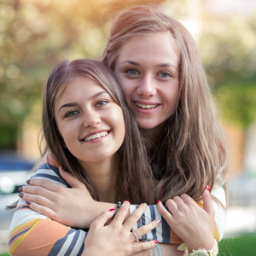
<svg viewBox="0 0 256 256">
<path fill-rule="evenodd" d="M 179 57 L 171 32 L 129 38 L 120 49 L 115 73 L 143 130 L 156 131 L 175 112 Z"/>
</svg>

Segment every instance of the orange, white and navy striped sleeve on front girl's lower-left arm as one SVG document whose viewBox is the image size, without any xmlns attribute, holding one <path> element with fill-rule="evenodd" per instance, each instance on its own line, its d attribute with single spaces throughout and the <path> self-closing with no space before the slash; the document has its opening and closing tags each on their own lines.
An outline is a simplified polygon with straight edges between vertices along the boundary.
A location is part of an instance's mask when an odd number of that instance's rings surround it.
<svg viewBox="0 0 256 256">
<path fill-rule="evenodd" d="M 20 200 L 12 219 L 8 249 L 11 255 L 80 255 L 86 233 L 59 224 L 34 212 Z"/>
</svg>

